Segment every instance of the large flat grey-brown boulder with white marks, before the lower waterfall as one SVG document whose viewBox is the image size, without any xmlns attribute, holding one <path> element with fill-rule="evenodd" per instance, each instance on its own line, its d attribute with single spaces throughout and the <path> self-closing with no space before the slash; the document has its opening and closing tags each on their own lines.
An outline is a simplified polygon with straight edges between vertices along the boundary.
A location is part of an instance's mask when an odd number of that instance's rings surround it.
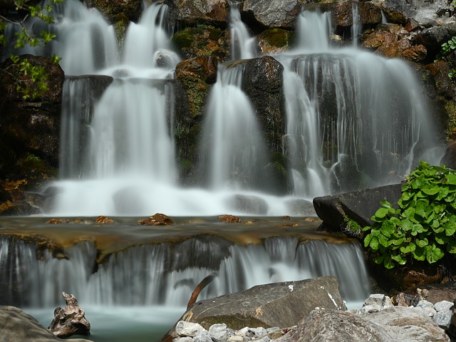
<svg viewBox="0 0 456 342">
<path fill-rule="evenodd" d="M 294 326 L 316 307 L 346 310 L 334 276 L 254 286 L 195 303 L 179 321 L 199 323 L 206 329 L 225 323 L 232 329 L 245 326 L 264 328 Z M 175 327 L 162 341 L 176 338 Z"/>
</svg>

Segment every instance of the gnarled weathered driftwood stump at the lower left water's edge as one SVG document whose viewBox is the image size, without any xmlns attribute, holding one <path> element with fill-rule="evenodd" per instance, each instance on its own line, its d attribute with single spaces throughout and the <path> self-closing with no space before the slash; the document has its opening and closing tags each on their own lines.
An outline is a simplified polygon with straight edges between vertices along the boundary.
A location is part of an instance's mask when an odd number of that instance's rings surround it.
<svg viewBox="0 0 456 342">
<path fill-rule="evenodd" d="M 90 335 L 90 323 L 86 317 L 86 311 L 81 309 L 73 294 L 62 292 L 66 301 L 65 309 L 58 306 L 54 310 L 54 319 L 48 329 L 55 336 L 65 338 L 72 335 Z"/>
</svg>

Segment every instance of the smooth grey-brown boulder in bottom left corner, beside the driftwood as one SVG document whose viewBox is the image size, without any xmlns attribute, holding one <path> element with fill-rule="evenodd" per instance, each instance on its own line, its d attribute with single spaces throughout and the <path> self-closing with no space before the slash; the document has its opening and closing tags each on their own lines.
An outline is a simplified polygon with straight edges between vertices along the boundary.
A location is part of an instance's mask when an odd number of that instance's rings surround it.
<svg viewBox="0 0 456 342">
<path fill-rule="evenodd" d="M 0 306 L 0 331 L 1 341 L 65 341 L 41 326 L 35 318 L 14 306 Z M 73 338 L 71 341 L 90 342 L 83 338 Z"/>
</svg>

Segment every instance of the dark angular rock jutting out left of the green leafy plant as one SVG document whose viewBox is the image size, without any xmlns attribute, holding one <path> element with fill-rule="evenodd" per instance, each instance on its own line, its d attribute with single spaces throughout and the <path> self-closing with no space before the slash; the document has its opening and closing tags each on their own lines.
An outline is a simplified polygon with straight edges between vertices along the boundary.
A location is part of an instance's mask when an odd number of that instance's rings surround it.
<svg viewBox="0 0 456 342">
<path fill-rule="evenodd" d="M 401 195 L 402 185 L 385 185 L 373 189 L 346 192 L 341 195 L 314 198 L 314 208 L 323 223 L 338 231 L 343 226 L 343 217 L 348 216 L 361 227 L 373 224 L 371 217 L 380 207 L 380 201 L 386 199 L 395 205 Z"/>
</svg>

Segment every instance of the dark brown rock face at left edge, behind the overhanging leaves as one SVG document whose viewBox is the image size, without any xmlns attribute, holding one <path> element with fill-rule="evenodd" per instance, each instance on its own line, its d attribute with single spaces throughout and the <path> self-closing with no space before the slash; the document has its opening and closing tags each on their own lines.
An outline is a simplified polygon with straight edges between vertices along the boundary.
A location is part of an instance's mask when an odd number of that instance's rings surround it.
<svg viewBox="0 0 456 342">
<path fill-rule="evenodd" d="M 64 74 L 60 66 L 49 58 L 24 55 L 32 65 L 42 66 L 48 75 L 48 90 L 35 100 L 23 100 L 16 91 L 16 66 L 7 59 L 0 66 L 0 163 L 11 165 L 11 154 L 16 158 L 33 153 L 53 167 L 58 166 L 60 146 L 60 112 Z M 27 76 L 20 82 L 33 88 Z M 11 165 L 12 167 L 12 165 Z"/>
</svg>

